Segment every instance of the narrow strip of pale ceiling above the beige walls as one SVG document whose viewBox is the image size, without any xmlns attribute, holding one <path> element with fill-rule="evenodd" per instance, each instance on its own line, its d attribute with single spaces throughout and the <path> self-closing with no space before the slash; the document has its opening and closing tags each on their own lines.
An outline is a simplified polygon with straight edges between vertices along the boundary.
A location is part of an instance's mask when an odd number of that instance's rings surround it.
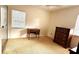
<svg viewBox="0 0 79 59">
<path fill-rule="evenodd" d="M 15 5 L 15 6 L 24 7 L 24 8 L 25 7 L 38 7 L 47 11 L 55 11 L 55 10 L 59 10 L 63 8 L 68 8 L 74 5 Z"/>
</svg>

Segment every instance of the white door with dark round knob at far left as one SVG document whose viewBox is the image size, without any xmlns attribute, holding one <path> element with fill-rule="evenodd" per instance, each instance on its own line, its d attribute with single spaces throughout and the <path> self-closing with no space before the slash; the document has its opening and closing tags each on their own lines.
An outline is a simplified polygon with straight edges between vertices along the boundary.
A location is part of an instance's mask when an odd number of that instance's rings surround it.
<svg viewBox="0 0 79 59">
<path fill-rule="evenodd" d="M 7 6 L 1 6 L 1 39 L 7 39 Z"/>
</svg>

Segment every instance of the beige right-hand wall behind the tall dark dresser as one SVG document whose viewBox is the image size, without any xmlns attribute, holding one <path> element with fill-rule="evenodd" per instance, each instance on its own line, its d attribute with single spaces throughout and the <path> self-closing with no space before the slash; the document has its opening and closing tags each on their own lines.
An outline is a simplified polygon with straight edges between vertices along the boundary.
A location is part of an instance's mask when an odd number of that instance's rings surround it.
<svg viewBox="0 0 79 59">
<path fill-rule="evenodd" d="M 51 23 L 48 30 L 48 36 L 54 38 L 56 26 L 74 28 L 78 14 L 79 6 L 51 12 Z"/>
</svg>

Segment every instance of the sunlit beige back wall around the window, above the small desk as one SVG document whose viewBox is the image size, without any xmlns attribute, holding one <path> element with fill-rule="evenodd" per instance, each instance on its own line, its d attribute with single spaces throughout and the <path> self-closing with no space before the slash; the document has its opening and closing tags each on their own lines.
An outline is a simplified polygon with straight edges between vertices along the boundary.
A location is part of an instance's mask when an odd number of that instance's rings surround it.
<svg viewBox="0 0 79 59">
<path fill-rule="evenodd" d="M 8 32 L 9 37 L 21 37 L 20 33 L 24 29 L 12 29 L 11 27 L 11 11 L 20 10 L 26 13 L 26 27 L 40 28 L 41 35 L 46 35 L 49 25 L 50 14 L 48 11 L 41 9 L 37 6 L 8 6 Z M 25 32 L 26 34 L 26 32 Z"/>
</svg>

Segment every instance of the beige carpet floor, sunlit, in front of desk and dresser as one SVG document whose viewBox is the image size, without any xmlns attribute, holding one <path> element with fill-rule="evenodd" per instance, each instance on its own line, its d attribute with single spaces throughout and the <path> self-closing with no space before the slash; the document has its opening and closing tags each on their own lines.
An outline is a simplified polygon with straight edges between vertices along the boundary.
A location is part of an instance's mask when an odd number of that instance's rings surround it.
<svg viewBox="0 0 79 59">
<path fill-rule="evenodd" d="M 52 42 L 48 37 L 39 39 L 9 39 L 4 54 L 68 54 L 68 49 Z"/>
</svg>

